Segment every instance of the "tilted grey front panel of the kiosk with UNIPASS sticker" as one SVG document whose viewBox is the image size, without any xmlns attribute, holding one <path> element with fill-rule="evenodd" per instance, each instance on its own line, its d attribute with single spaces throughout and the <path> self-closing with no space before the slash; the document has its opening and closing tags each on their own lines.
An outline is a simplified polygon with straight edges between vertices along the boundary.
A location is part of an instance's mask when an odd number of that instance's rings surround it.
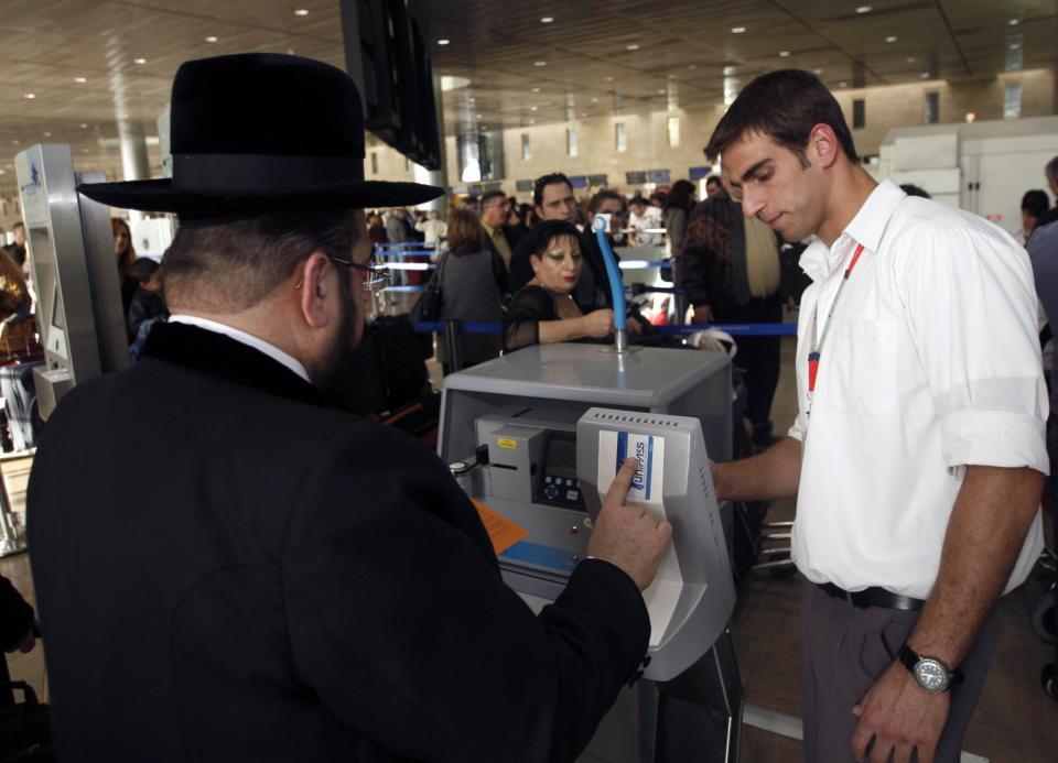
<svg viewBox="0 0 1058 763">
<path fill-rule="evenodd" d="M 581 416 L 576 472 L 593 520 L 628 457 L 639 466 L 627 502 L 672 524 L 657 577 L 644 591 L 651 629 L 644 675 L 671 680 L 710 650 L 731 619 L 727 544 L 697 418 L 597 407 Z"/>
</svg>

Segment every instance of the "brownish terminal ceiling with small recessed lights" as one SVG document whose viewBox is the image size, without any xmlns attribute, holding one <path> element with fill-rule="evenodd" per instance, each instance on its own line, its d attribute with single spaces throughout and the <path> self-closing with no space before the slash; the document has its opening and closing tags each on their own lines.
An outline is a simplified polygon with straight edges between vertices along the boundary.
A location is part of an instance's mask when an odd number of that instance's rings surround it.
<svg viewBox="0 0 1058 763">
<path fill-rule="evenodd" d="M 786 66 L 841 89 L 986 80 L 1052 69 L 1058 55 L 1055 0 L 411 4 L 450 87 L 450 135 L 467 123 L 708 107 L 723 102 L 725 79 L 730 90 Z M 183 0 L 179 9 L 159 0 L 6 0 L 2 10 L 3 196 L 15 192 L 14 154 L 34 143 L 69 143 L 79 168 L 121 178 L 119 120 L 154 135 L 187 58 L 270 51 L 344 64 L 338 0 Z"/>
</svg>

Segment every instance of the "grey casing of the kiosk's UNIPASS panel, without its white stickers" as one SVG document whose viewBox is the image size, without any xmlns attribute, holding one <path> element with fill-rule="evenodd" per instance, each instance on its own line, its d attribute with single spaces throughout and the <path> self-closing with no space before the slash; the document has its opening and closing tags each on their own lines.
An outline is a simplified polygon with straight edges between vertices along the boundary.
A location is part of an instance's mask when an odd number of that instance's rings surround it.
<svg viewBox="0 0 1058 763">
<path fill-rule="evenodd" d="M 672 552 L 678 573 L 670 582 L 679 599 L 668 626 L 651 643 L 644 675 L 671 680 L 693 665 L 727 628 L 735 608 L 735 585 L 701 422 L 687 416 L 636 414 L 591 408 L 576 424 L 576 473 L 594 519 L 605 491 L 600 491 L 600 438 L 604 432 L 645 435 L 665 443 L 661 503 L 672 524 Z M 616 465 L 615 465 L 616 466 Z M 655 476 L 657 479 L 657 476 Z M 666 576 L 662 567 L 658 577 Z M 666 582 L 657 580 L 656 586 Z M 647 589 L 651 621 L 657 612 Z M 703 648 L 704 646 L 704 648 Z"/>
</svg>

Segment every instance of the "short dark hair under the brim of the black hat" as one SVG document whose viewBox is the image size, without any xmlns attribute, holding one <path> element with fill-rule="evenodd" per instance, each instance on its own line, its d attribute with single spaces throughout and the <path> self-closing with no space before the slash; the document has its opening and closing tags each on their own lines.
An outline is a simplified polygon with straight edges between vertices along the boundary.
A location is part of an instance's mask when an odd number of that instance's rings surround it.
<svg viewBox="0 0 1058 763">
<path fill-rule="evenodd" d="M 217 221 L 182 219 L 162 259 L 165 297 L 218 313 L 260 303 L 313 252 L 348 259 L 355 210 L 295 209 Z"/>
</svg>

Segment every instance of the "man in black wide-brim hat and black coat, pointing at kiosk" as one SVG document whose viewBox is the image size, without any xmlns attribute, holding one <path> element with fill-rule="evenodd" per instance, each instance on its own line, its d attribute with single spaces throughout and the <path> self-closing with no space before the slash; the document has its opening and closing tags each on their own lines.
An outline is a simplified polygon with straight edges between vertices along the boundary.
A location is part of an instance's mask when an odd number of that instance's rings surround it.
<svg viewBox="0 0 1058 763">
<path fill-rule="evenodd" d="M 343 72 L 186 63 L 171 134 L 171 181 L 80 188 L 181 227 L 171 321 L 63 400 L 31 476 L 60 760 L 572 760 L 646 653 L 669 526 L 626 468 L 535 617 L 434 454 L 335 405 L 384 279 L 363 207 L 441 194 L 363 179 Z"/>
</svg>

